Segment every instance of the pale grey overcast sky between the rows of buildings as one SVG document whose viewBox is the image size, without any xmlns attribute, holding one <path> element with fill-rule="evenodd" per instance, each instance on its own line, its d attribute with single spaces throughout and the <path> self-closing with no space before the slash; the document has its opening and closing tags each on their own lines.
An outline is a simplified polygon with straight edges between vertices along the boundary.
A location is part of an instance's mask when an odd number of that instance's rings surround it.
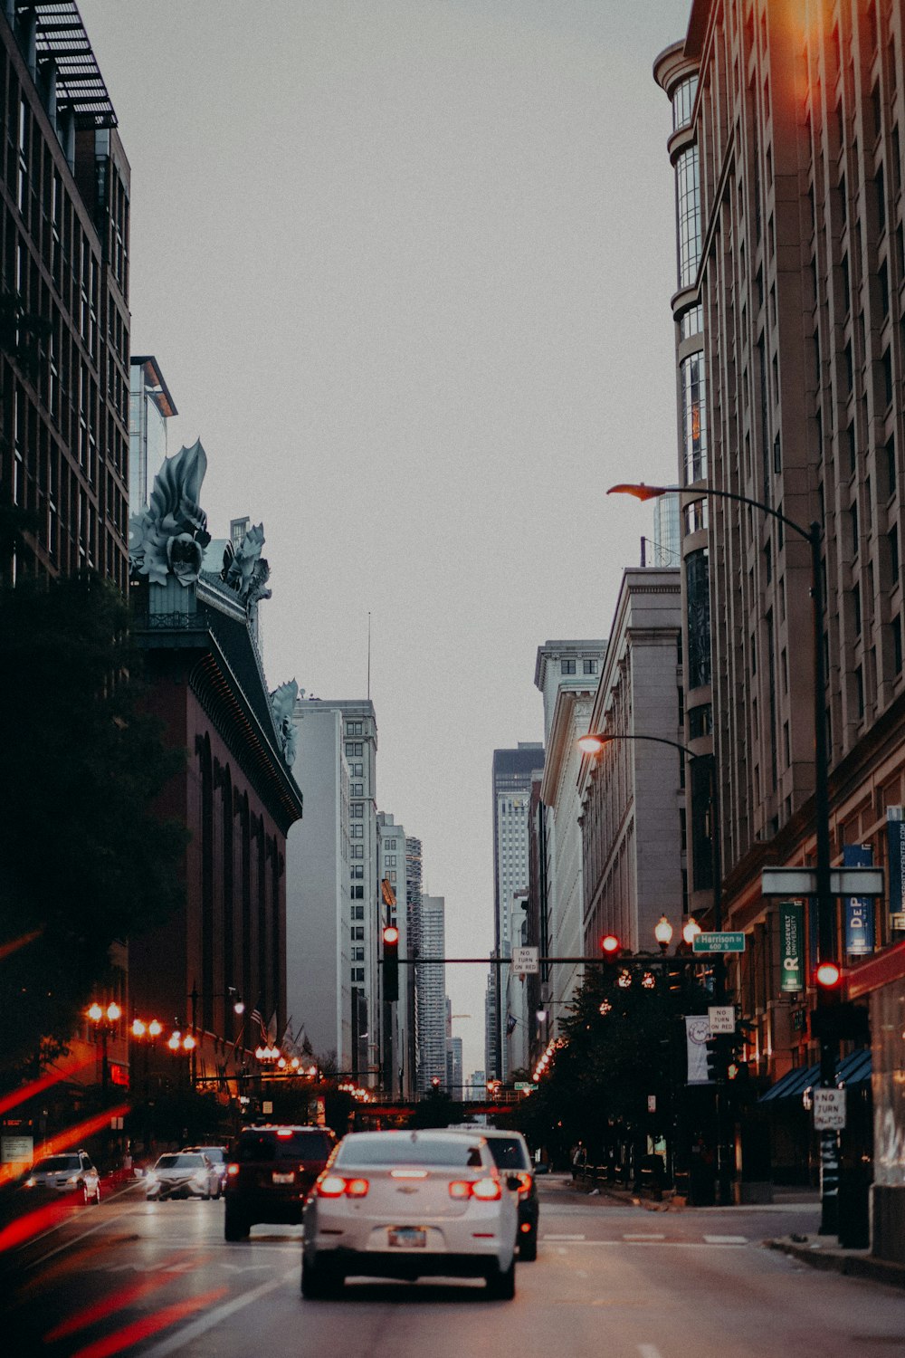
<svg viewBox="0 0 905 1358">
<path fill-rule="evenodd" d="M 132 352 L 263 520 L 270 687 L 366 691 L 446 952 L 493 944 L 491 758 L 605 637 L 676 477 L 670 110 L 688 0 L 79 0 L 132 164 Z M 449 967 L 465 1074 L 486 970 Z M 296 1016 L 299 1020 L 301 1016 Z"/>
</svg>

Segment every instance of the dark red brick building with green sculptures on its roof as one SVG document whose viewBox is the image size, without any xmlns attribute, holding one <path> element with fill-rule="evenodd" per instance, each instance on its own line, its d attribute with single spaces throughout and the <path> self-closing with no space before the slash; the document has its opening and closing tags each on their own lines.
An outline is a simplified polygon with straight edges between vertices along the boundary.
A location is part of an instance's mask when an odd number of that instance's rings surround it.
<svg viewBox="0 0 905 1358">
<path fill-rule="evenodd" d="M 166 740 L 187 747 L 160 811 L 185 824 L 190 839 L 185 904 L 130 940 L 129 983 L 136 1016 L 190 1029 L 193 1076 L 235 1095 L 262 1036 L 280 1042 L 286 1027 L 286 837 L 303 799 L 290 773 L 297 686 L 267 693 L 250 626 L 261 542 L 242 549 L 242 579 L 205 568 L 205 469 L 201 443 L 183 448 L 132 526 L 132 606 L 148 706 Z M 236 999 L 244 1002 L 242 1017 Z"/>
</svg>

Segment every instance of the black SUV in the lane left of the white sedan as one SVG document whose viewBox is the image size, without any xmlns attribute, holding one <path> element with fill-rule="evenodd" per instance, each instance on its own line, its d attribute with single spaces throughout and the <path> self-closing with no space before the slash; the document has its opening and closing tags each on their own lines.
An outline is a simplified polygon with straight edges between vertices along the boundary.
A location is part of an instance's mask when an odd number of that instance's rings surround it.
<svg viewBox="0 0 905 1358">
<path fill-rule="evenodd" d="M 328 1127 L 246 1127 L 229 1148 L 227 1240 L 259 1221 L 296 1225 L 315 1179 L 336 1145 Z"/>
</svg>

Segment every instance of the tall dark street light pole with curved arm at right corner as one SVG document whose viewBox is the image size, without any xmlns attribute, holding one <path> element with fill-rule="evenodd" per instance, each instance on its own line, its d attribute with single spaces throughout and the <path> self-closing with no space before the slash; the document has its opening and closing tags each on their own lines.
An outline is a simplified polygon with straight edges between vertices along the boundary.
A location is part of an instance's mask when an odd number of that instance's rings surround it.
<svg viewBox="0 0 905 1358">
<path fill-rule="evenodd" d="M 813 604 L 813 646 L 814 646 L 814 841 L 815 841 L 815 906 L 817 906 L 817 961 L 836 960 L 836 898 L 830 888 L 830 845 L 829 845 L 829 754 L 826 748 L 826 674 L 824 668 L 824 583 L 821 572 L 821 526 L 814 520 L 810 527 L 803 528 L 794 519 L 787 519 L 772 505 L 753 500 L 750 496 L 738 494 L 734 490 L 718 490 L 715 486 L 646 486 L 638 485 L 611 486 L 606 494 L 630 494 L 636 500 L 657 500 L 663 494 L 685 492 L 689 496 L 712 497 L 716 500 L 731 500 L 735 504 L 750 505 L 760 509 L 771 519 L 777 519 L 799 538 L 803 538 L 810 549 L 811 566 L 811 604 Z M 832 997 L 821 987 L 817 991 L 818 1008 L 825 1008 L 833 1002 Z M 820 1082 L 822 1089 L 836 1088 L 836 1067 L 839 1062 L 839 1042 L 826 1036 L 826 1027 L 821 1028 L 820 1039 Z M 836 1234 L 839 1221 L 839 1135 L 836 1131 L 821 1133 L 821 1225 L 822 1236 Z"/>
</svg>

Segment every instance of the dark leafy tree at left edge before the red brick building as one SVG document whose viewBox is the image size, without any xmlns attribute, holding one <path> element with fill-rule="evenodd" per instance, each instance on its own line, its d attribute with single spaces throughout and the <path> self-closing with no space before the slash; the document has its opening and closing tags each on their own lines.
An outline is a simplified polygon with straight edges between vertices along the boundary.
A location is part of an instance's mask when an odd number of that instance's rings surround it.
<svg viewBox="0 0 905 1358">
<path fill-rule="evenodd" d="M 185 752 L 141 709 L 128 622 L 95 576 L 0 589 L 0 1085 L 65 1050 L 114 940 L 182 899 L 187 831 L 153 804 Z"/>
</svg>

